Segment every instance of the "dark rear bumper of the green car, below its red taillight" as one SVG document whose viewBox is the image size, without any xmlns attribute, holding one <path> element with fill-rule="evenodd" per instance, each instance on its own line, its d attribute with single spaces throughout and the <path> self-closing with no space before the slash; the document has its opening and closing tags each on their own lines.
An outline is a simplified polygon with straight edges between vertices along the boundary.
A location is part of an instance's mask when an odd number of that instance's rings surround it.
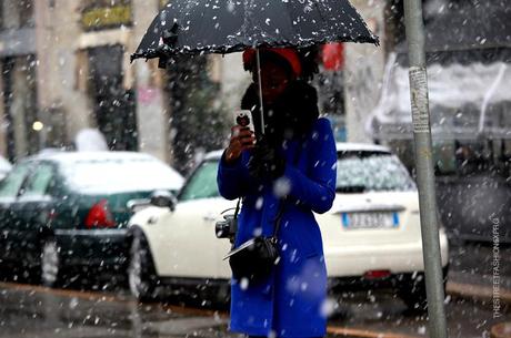
<svg viewBox="0 0 511 338">
<path fill-rule="evenodd" d="M 58 229 L 56 238 L 66 266 L 110 267 L 126 264 L 128 229 Z"/>
</svg>

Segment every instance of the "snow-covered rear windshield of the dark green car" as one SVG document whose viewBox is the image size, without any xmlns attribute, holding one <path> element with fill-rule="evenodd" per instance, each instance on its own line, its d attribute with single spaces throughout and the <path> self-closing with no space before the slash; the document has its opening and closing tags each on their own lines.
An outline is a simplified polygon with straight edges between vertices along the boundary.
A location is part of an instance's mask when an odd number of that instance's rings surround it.
<svg viewBox="0 0 511 338">
<path fill-rule="evenodd" d="M 84 194 L 166 188 L 177 192 L 181 175 L 153 158 L 101 158 L 64 162 L 61 171 L 72 190 Z"/>
</svg>

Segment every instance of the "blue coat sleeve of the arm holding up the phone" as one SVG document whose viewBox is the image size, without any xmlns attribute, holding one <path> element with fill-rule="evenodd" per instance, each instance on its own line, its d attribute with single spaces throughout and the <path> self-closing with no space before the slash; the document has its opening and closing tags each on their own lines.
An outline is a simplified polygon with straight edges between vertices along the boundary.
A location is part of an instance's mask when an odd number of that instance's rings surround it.
<svg viewBox="0 0 511 338">
<path fill-rule="evenodd" d="M 218 190 L 223 198 L 236 199 L 247 193 L 249 177 L 247 166 L 244 165 L 246 154 L 242 154 L 242 156 L 232 164 L 226 162 L 224 155 L 226 153 L 222 154 L 218 166 Z"/>
</svg>

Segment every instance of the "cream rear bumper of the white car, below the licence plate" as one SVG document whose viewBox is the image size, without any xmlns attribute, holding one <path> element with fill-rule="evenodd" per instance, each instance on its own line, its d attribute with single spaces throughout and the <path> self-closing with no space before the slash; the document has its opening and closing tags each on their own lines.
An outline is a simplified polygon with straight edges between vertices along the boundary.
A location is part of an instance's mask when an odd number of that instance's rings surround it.
<svg viewBox="0 0 511 338">
<path fill-rule="evenodd" d="M 443 232 L 440 233 L 440 252 L 442 267 L 445 267 L 449 260 L 449 245 Z M 332 278 L 363 276 L 371 270 L 389 270 L 393 275 L 424 270 L 420 240 L 325 247 L 324 259 L 328 275 Z"/>
</svg>

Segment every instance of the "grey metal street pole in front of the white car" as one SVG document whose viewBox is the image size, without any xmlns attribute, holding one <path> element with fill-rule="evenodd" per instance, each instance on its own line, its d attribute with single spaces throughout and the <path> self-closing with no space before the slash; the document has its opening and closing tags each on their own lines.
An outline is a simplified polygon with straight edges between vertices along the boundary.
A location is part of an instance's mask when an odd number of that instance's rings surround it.
<svg viewBox="0 0 511 338">
<path fill-rule="evenodd" d="M 404 24 L 408 40 L 410 99 L 412 105 L 415 165 L 419 187 L 422 252 L 428 296 L 429 334 L 432 338 L 447 338 L 443 307 L 443 275 L 440 256 L 439 226 L 432 161 L 431 125 L 425 71 L 424 23 L 422 1 L 404 0 Z"/>
</svg>

